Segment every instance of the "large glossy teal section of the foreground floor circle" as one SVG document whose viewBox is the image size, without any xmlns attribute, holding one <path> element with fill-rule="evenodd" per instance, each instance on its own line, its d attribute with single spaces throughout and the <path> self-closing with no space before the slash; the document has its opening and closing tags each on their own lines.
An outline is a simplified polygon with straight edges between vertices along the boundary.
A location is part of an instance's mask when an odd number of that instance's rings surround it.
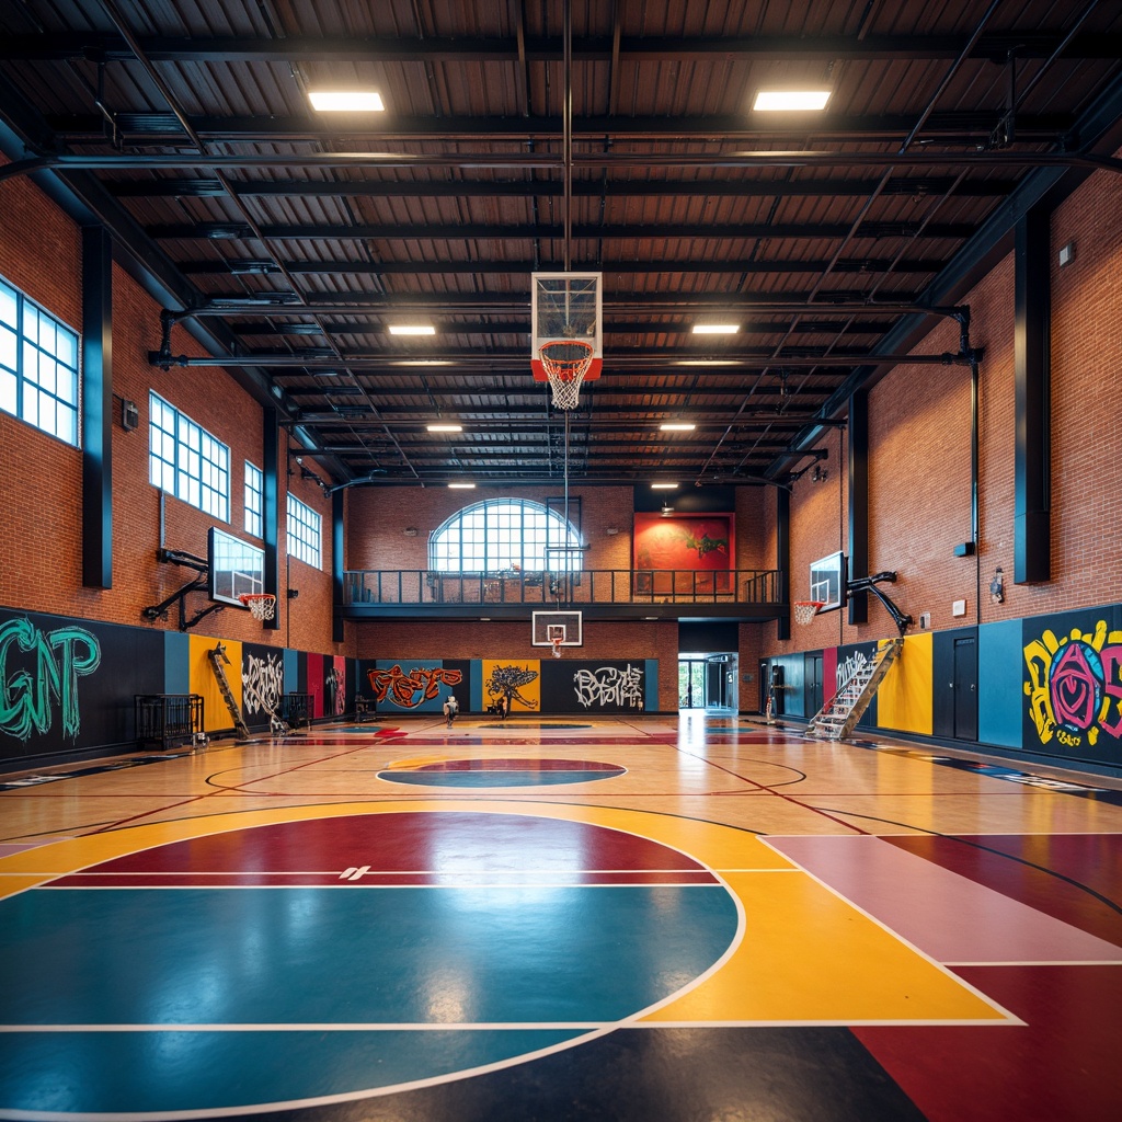
<svg viewBox="0 0 1122 1122">
<path fill-rule="evenodd" d="M 669 996 L 736 930 L 720 885 L 33 889 L 0 901 L 0 1115 L 217 1114 L 502 1063 Z"/>
</svg>

